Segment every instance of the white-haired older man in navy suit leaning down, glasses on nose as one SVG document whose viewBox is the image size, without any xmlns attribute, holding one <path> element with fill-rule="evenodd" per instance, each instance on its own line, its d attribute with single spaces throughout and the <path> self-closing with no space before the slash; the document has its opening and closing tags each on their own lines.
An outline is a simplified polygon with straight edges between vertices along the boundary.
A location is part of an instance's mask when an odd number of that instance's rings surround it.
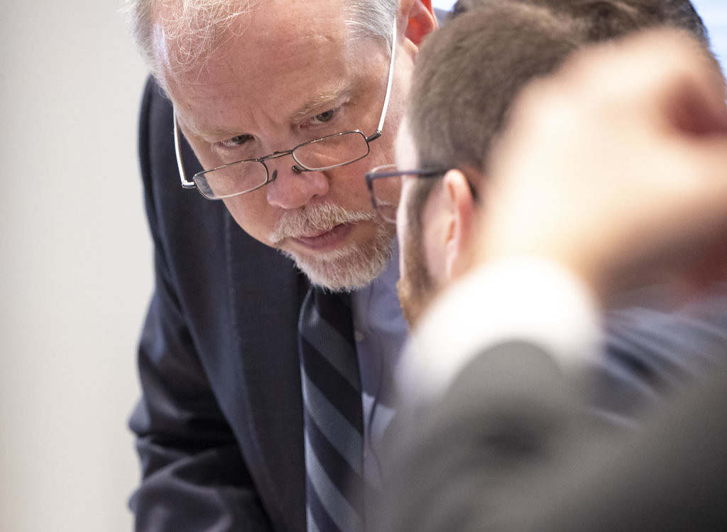
<svg viewBox="0 0 727 532">
<path fill-rule="evenodd" d="M 362 176 L 393 159 L 430 1 L 129 0 L 129 16 L 154 78 L 137 530 L 363 530 L 406 326 Z"/>
</svg>

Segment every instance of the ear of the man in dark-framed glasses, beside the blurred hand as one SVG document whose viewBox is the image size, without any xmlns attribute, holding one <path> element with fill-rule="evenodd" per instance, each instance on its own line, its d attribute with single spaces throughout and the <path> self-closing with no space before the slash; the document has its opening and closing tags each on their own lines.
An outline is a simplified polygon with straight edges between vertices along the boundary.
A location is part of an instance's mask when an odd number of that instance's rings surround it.
<svg viewBox="0 0 727 532">
<path fill-rule="evenodd" d="M 442 185 L 446 208 L 450 213 L 444 247 L 445 271 L 447 279 L 453 279 L 459 277 L 469 263 L 475 199 L 465 174 L 460 170 L 449 170 L 444 175 Z"/>
</svg>

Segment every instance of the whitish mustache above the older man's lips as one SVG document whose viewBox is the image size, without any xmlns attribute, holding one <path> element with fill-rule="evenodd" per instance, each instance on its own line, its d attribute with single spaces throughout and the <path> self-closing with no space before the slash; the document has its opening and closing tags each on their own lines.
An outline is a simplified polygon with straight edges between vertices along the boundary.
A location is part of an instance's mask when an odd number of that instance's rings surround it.
<svg viewBox="0 0 727 532">
<path fill-rule="evenodd" d="M 331 203 L 308 205 L 302 210 L 287 211 L 270 233 L 270 242 L 278 245 L 286 238 L 298 238 L 311 231 L 330 231 L 342 223 L 372 221 L 376 213 L 349 210 Z"/>
</svg>

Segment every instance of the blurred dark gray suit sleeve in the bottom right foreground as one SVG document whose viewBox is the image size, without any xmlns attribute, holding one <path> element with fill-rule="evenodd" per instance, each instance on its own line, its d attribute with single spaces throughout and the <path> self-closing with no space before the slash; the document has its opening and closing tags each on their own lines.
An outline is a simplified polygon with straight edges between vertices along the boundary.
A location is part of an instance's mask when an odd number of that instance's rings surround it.
<svg viewBox="0 0 727 532">
<path fill-rule="evenodd" d="M 600 424 L 538 346 L 486 349 L 403 420 L 387 532 L 724 530 L 727 370 L 638 432 Z"/>
</svg>

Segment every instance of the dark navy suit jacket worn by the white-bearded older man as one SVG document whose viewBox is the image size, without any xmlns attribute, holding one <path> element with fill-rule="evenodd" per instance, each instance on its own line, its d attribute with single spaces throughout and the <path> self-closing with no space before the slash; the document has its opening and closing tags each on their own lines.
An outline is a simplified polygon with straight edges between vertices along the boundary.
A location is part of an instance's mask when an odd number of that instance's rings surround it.
<svg viewBox="0 0 727 532">
<path fill-rule="evenodd" d="M 297 318 L 307 281 L 222 202 L 182 190 L 172 108 L 149 81 L 140 162 L 153 298 L 139 346 L 140 531 L 302 530 Z M 184 143 L 185 169 L 198 163 Z"/>
</svg>

